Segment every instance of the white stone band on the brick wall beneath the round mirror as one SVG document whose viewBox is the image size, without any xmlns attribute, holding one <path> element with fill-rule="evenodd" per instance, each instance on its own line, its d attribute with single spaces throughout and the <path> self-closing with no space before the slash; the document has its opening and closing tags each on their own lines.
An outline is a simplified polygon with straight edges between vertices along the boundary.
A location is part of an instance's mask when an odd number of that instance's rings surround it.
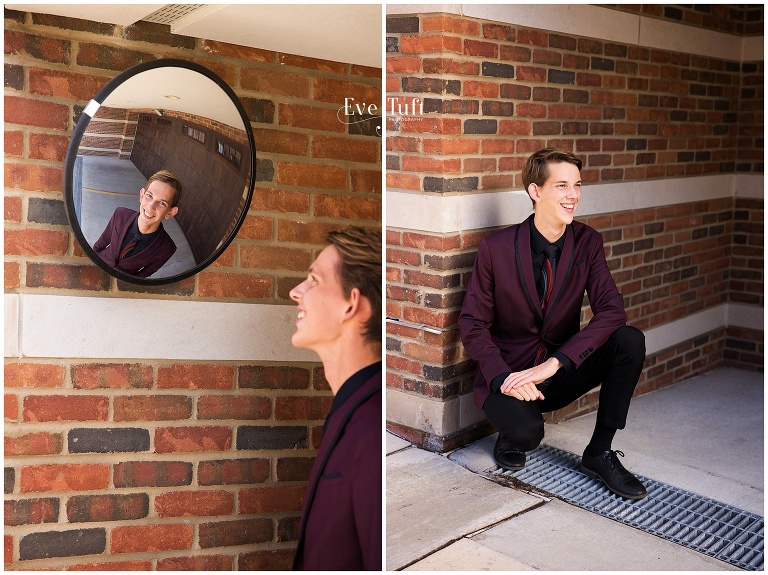
<svg viewBox="0 0 768 575">
<path fill-rule="evenodd" d="M 292 305 L 6 294 L 5 357 L 319 361 L 291 345 L 295 320 Z"/>
</svg>

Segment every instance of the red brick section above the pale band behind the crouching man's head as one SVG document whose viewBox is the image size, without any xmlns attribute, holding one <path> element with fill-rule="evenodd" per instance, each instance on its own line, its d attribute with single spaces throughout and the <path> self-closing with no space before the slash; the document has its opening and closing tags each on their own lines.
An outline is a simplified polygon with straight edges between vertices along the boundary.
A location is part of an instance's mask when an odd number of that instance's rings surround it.
<svg viewBox="0 0 768 575">
<path fill-rule="evenodd" d="M 449 15 L 387 22 L 387 98 L 424 111 L 387 117 L 389 187 L 519 188 L 545 145 L 578 153 L 587 183 L 762 170 L 762 148 L 738 137 L 743 84 L 762 125 L 762 63 Z"/>
</svg>

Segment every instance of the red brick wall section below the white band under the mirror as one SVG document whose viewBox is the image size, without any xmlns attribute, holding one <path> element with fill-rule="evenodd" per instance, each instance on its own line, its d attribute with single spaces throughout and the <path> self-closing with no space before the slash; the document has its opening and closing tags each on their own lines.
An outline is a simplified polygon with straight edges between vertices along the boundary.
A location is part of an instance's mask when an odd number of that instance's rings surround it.
<svg viewBox="0 0 768 575">
<path fill-rule="evenodd" d="M 285 568 L 325 389 L 312 366 L 6 363 L 6 565 Z"/>
</svg>

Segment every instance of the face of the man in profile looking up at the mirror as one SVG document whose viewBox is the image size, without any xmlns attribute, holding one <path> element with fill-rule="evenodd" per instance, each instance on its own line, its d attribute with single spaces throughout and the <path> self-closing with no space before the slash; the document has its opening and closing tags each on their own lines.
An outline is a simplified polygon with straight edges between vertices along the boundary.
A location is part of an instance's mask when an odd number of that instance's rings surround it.
<svg viewBox="0 0 768 575">
<path fill-rule="evenodd" d="M 339 282 L 341 263 L 335 246 L 327 246 L 309 268 L 307 279 L 291 290 L 299 304 L 296 332 L 291 343 L 316 352 L 332 345 L 341 335 L 341 324 L 349 302 Z"/>
</svg>

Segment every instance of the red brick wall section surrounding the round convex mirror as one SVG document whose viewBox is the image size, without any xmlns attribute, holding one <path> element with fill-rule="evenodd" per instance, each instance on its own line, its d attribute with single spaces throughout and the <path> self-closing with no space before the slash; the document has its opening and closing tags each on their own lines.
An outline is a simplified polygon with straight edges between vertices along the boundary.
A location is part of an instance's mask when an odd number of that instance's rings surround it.
<svg viewBox="0 0 768 575">
<path fill-rule="evenodd" d="M 214 266 L 163 293 L 285 302 L 326 231 L 380 225 L 381 139 L 348 133 L 336 115 L 345 97 L 380 100 L 379 69 L 179 37 L 148 23 L 128 27 L 120 38 L 111 25 L 70 31 L 82 24 L 6 11 L 6 198 L 47 200 L 58 216 L 32 222 L 6 212 L 6 262 L 19 264 L 9 266 L 7 284 L 147 291 L 111 285 L 84 257 L 61 224 L 61 188 L 76 116 L 110 78 L 157 57 L 194 60 L 235 90 L 251 119 L 258 163 L 251 210 L 237 239 Z M 45 278 L 34 286 L 24 274 L 30 265 L 41 272 L 35 278 Z"/>
</svg>

